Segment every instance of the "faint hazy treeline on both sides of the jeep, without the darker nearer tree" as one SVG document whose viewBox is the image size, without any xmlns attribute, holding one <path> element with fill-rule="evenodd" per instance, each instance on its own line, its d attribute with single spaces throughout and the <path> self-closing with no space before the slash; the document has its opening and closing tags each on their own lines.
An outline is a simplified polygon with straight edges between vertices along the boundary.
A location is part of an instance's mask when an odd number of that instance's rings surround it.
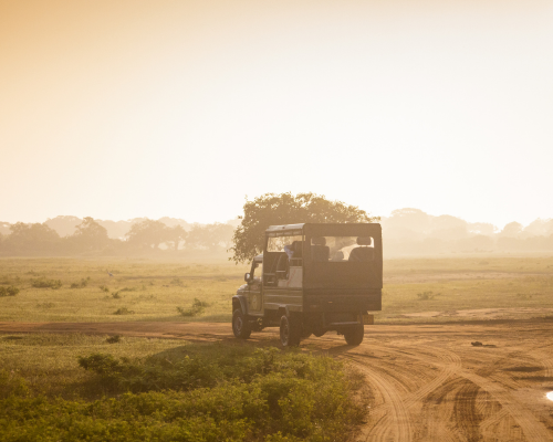
<svg viewBox="0 0 553 442">
<path fill-rule="evenodd" d="M 102 221 L 56 217 L 44 223 L 0 223 L 0 255 L 212 255 L 227 256 L 239 220 L 191 224 L 147 218 Z M 448 253 L 553 251 L 553 219 L 518 222 L 499 230 L 451 215 L 398 209 L 382 218 L 386 257 Z"/>
</svg>

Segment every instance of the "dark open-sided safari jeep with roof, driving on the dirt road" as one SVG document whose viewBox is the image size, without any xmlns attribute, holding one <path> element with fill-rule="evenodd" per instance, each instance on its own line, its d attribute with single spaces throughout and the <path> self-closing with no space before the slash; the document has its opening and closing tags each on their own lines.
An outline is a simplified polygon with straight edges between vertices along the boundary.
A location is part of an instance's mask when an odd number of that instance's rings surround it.
<svg viewBox="0 0 553 442">
<path fill-rule="evenodd" d="M 284 347 L 330 330 L 359 345 L 382 311 L 382 250 L 376 223 L 271 225 L 232 297 L 234 336 L 279 326 Z"/>
</svg>

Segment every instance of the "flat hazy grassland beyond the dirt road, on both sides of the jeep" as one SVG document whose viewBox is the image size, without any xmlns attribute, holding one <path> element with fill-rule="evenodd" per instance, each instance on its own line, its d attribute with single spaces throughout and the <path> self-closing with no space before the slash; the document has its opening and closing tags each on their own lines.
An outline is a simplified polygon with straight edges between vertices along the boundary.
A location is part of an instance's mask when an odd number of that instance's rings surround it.
<svg viewBox="0 0 553 442">
<path fill-rule="evenodd" d="M 244 265 L 222 260 L 2 259 L 0 286 L 13 285 L 20 293 L 0 297 L 0 322 L 230 322 L 231 296 L 246 271 Z M 61 287 L 33 287 L 40 278 L 61 281 Z M 79 286 L 83 280 L 86 286 Z M 208 306 L 182 317 L 177 308 L 190 309 L 195 298 Z M 377 322 L 458 320 L 467 319 L 459 314 L 462 311 L 493 308 L 510 311 L 481 316 L 551 315 L 553 256 L 384 263 L 383 312 Z"/>
</svg>

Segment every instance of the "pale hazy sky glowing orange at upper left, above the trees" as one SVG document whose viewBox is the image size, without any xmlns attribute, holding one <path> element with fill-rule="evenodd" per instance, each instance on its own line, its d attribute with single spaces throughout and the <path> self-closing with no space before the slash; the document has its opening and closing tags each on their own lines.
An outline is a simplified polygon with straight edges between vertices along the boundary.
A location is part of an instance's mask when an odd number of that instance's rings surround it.
<svg viewBox="0 0 553 442">
<path fill-rule="evenodd" d="M 0 221 L 313 191 L 553 217 L 553 2 L 0 1 Z"/>
</svg>

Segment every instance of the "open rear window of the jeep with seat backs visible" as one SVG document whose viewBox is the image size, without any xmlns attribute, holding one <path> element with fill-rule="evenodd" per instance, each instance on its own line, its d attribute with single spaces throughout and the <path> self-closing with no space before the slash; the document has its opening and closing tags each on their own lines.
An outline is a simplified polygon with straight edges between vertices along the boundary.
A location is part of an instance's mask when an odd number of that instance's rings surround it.
<svg viewBox="0 0 553 442">
<path fill-rule="evenodd" d="M 372 236 L 315 236 L 311 239 L 311 259 L 314 262 L 373 261 Z"/>
</svg>

